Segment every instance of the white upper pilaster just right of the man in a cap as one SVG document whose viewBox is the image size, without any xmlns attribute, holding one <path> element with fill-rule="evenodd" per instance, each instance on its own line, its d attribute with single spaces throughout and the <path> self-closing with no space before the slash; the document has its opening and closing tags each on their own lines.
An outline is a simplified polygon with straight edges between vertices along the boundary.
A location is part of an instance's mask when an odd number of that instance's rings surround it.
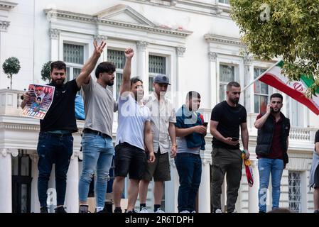
<svg viewBox="0 0 319 227">
<path fill-rule="evenodd" d="M 186 79 L 185 75 L 187 67 L 185 67 L 185 59 L 184 59 L 184 53 L 185 53 L 186 48 L 184 47 L 177 47 L 176 48 L 176 100 L 175 104 L 178 106 L 182 106 L 185 102 L 185 97 L 186 97 Z"/>
</svg>

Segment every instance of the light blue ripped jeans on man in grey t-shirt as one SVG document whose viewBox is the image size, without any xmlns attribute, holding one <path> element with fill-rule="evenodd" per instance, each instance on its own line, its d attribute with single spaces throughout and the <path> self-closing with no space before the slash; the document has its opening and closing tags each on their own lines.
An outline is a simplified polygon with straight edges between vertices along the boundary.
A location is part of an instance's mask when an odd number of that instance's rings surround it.
<svg viewBox="0 0 319 227">
<path fill-rule="evenodd" d="M 112 165 L 114 155 L 113 141 L 111 137 L 102 137 L 91 133 L 84 133 L 82 137 L 82 174 L 79 181 L 79 199 L 87 201 L 90 182 L 93 174 L 97 172 L 94 186 L 97 207 L 104 207 L 105 195 L 107 193 L 107 180 L 109 169 Z"/>
</svg>

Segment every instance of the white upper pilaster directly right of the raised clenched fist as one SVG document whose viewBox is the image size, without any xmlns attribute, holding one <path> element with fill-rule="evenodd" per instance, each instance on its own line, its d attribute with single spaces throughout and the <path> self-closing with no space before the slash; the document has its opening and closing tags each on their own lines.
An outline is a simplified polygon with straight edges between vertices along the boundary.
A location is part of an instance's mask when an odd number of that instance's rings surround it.
<svg viewBox="0 0 319 227">
<path fill-rule="evenodd" d="M 137 41 L 137 74 L 143 81 L 144 95 L 148 94 L 148 61 L 147 61 L 147 45 L 145 41 Z"/>
</svg>

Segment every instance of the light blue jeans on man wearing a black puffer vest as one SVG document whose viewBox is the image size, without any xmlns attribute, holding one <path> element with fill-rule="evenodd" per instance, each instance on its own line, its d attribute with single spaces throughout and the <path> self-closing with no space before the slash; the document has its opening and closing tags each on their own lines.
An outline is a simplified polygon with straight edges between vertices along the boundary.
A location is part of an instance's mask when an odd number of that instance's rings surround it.
<svg viewBox="0 0 319 227">
<path fill-rule="evenodd" d="M 266 193 L 271 174 L 272 209 L 279 208 L 280 182 L 283 175 L 283 160 L 261 157 L 258 160 L 259 170 L 259 211 L 266 212 Z"/>
</svg>

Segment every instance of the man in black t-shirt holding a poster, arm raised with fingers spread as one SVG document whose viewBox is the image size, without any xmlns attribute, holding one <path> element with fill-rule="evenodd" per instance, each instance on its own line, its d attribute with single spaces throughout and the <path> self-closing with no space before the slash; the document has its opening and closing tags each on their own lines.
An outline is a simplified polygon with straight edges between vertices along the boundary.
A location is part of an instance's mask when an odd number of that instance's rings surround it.
<svg viewBox="0 0 319 227">
<path fill-rule="evenodd" d="M 66 65 L 62 61 L 52 62 L 50 86 L 55 87 L 53 102 L 40 120 L 40 133 L 38 139 L 38 197 L 40 201 L 40 213 L 48 213 L 47 190 L 48 181 L 55 163 L 55 189 L 57 193 L 57 207 L 55 213 L 66 213 L 63 205 L 66 191 L 66 176 L 73 152 L 72 133 L 77 131 L 75 120 L 75 96 L 82 84 L 90 79 L 90 73 L 94 70 L 105 43 L 97 45 L 94 42 L 94 52 L 83 66 L 76 79 L 64 83 L 66 77 Z M 23 94 L 21 107 L 26 106 L 30 99 L 28 93 Z"/>
</svg>

